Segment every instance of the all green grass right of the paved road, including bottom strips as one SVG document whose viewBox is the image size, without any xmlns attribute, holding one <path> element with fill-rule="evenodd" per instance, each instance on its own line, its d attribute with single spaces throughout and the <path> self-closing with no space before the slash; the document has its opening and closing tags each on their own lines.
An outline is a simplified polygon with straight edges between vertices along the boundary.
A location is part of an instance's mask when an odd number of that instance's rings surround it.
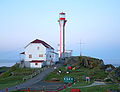
<svg viewBox="0 0 120 92">
<path fill-rule="evenodd" d="M 66 72 L 68 70 L 66 70 L 66 66 L 62 66 L 60 68 L 57 69 L 57 71 L 61 69 L 62 71 Z M 93 69 L 89 69 L 89 68 L 85 68 L 85 67 L 80 67 L 80 69 L 77 70 L 71 70 L 71 73 L 66 74 L 66 73 L 62 73 L 60 75 L 57 74 L 57 71 L 54 71 L 52 73 L 50 73 L 48 76 L 46 76 L 44 78 L 44 80 L 51 80 L 52 78 L 58 78 L 60 81 L 64 82 L 64 77 L 74 77 L 76 80 L 75 85 L 72 85 L 72 87 L 79 87 L 79 86 L 86 86 L 86 85 L 90 85 L 94 82 L 94 79 L 102 79 L 104 80 L 104 78 L 107 77 L 107 73 L 105 73 L 104 70 L 102 69 L 98 69 L 98 68 L 93 68 Z M 75 72 L 75 71 L 79 71 L 79 72 Z M 83 80 L 83 76 L 89 76 L 90 77 L 90 83 L 87 83 L 85 80 Z M 82 92 L 104 92 L 105 88 L 110 88 L 111 86 L 95 86 L 95 87 L 89 87 L 89 88 L 80 88 Z M 114 87 L 114 86 L 113 86 Z M 101 89 L 102 88 L 102 89 Z M 100 90 L 100 91 L 99 91 Z M 70 88 L 67 88 L 66 90 L 63 90 L 61 92 L 69 92 Z"/>
</svg>

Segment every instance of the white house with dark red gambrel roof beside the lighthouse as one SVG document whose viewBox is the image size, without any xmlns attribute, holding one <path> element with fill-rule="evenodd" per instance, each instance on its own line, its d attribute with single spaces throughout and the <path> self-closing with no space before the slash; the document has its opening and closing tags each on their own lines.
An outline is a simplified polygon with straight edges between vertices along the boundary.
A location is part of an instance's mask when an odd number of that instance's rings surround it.
<svg viewBox="0 0 120 92">
<path fill-rule="evenodd" d="M 39 39 L 30 42 L 21 54 L 25 55 L 25 67 L 41 68 L 59 61 L 59 55 L 54 52 L 54 48 Z"/>
</svg>

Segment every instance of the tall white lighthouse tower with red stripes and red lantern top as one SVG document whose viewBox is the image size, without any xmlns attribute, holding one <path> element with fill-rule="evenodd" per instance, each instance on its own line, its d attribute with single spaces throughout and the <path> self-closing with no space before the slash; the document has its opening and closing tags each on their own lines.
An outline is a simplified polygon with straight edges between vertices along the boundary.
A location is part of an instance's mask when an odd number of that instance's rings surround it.
<svg viewBox="0 0 120 92">
<path fill-rule="evenodd" d="M 59 13 L 59 25 L 60 25 L 60 57 L 65 57 L 65 24 L 67 20 L 65 19 L 65 13 Z"/>
</svg>

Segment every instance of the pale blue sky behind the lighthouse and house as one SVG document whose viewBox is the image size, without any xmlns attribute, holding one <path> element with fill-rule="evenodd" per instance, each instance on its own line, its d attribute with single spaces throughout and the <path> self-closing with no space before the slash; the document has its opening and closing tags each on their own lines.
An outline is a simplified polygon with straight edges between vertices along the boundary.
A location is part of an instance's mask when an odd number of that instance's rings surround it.
<svg viewBox="0 0 120 92">
<path fill-rule="evenodd" d="M 19 59 L 31 41 L 59 44 L 66 13 L 66 49 L 73 55 L 120 61 L 120 0 L 0 0 L 0 59 Z"/>
</svg>

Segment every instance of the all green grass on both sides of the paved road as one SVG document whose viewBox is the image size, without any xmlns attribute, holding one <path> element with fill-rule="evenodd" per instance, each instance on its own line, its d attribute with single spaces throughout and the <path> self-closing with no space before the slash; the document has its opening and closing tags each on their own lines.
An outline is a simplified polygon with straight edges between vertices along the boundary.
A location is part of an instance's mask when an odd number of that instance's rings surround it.
<svg viewBox="0 0 120 92">
<path fill-rule="evenodd" d="M 62 74 L 57 74 L 57 71 L 61 69 L 63 71 Z M 19 83 L 24 82 L 22 79 L 25 76 L 11 76 L 11 72 L 14 73 L 33 73 L 37 69 L 31 69 L 31 68 L 19 68 L 18 66 L 11 67 L 7 72 L 0 75 L 0 89 L 10 87 Z M 77 70 L 70 70 L 71 73 L 67 74 L 66 66 L 62 66 L 57 69 L 57 71 L 51 72 L 48 76 L 46 76 L 43 80 L 50 81 L 52 78 L 57 78 L 60 81 L 64 82 L 64 77 L 74 77 L 76 84 L 72 85 L 72 87 L 79 87 L 79 86 L 86 86 L 90 85 L 94 82 L 94 79 L 104 79 L 107 77 L 107 73 L 105 73 L 104 70 L 99 68 L 85 68 L 83 66 L 80 67 L 80 69 Z M 86 83 L 85 80 L 83 80 L 83 76 L 89 76 L 90 77 L 90 83 Z M 88 87 L 88 88 L 80 88 L 82 92 L 104 92 L 105 88 L 117 88 L 114 85 L 108 85 L 108 86 L 94 86 L 94 87 Z M 69 92 L 70 88 L 66 88 L 65 90 L 61 92 Z M 101 91 L 99 91 L 101 90 Z M 20 91 L 15 91 L 20 92 Z"/>
</svg>

